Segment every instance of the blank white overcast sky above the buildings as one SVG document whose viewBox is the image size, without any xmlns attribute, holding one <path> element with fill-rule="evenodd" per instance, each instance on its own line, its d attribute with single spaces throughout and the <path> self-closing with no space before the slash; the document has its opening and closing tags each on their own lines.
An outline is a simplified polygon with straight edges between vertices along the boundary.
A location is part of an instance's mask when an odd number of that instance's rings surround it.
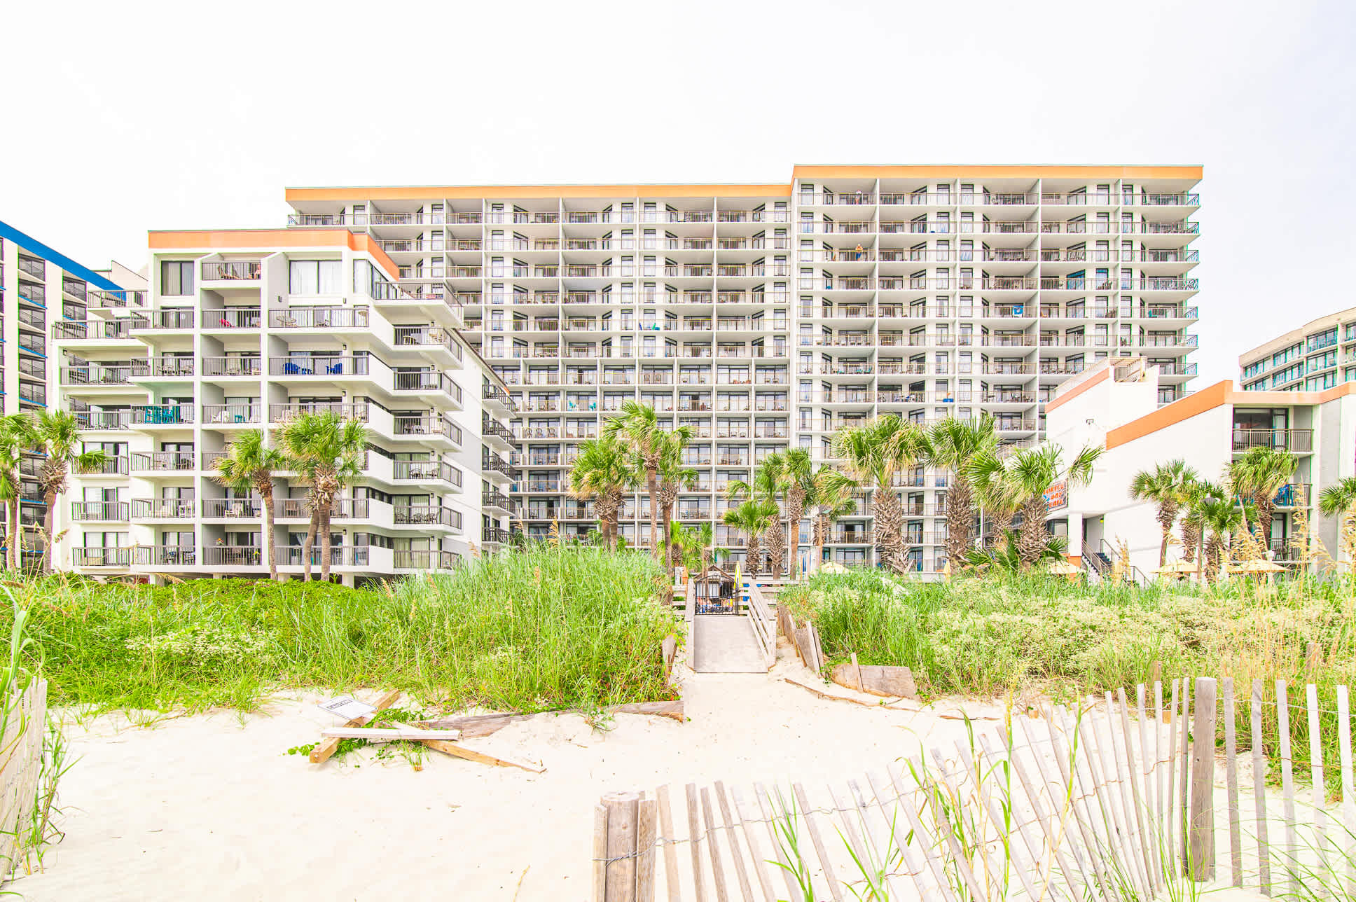
<svg viewBox="0 0 1356 902">
<path fill-rule="evenodd" d="M 1200 163 L 1201 388 L 1352 307 L 1352 3 L 14 3 L 0 220 L 87 266 L 283 187 Z"/>
</svg>

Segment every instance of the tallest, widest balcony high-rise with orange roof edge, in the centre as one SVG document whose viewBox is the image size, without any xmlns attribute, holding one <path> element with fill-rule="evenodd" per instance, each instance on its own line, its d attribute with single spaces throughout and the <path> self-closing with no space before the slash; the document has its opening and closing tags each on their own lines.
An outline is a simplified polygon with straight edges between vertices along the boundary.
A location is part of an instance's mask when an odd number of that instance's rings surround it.
<svg viewBox="0 0 1356 902">
<path fill-rule="evenodd" d="M 805 165 L 778 184 L 290 189 L 300 229 L 370 235 L 410 292 L 456 298 L 518 403 L 529 536 L 594 522 L 567 495 L 582 439 L 626 400 L 690 425 L 700 476 L 677 503 L 712 522 L 766 454 L 879 414 L 991 414 L 1044 434 L 1055 388 L 1111 354 L 1185 393 L 1200 167 Z M 903 475 L 914 566 L 945 562 L 945 479 Z M 830 536 L 872 560 L 869 505 Z M 648 540 L 648 498 L 621 534 Z M 801 553 L 811 530 L 801 528 Z"/>
</svg>

